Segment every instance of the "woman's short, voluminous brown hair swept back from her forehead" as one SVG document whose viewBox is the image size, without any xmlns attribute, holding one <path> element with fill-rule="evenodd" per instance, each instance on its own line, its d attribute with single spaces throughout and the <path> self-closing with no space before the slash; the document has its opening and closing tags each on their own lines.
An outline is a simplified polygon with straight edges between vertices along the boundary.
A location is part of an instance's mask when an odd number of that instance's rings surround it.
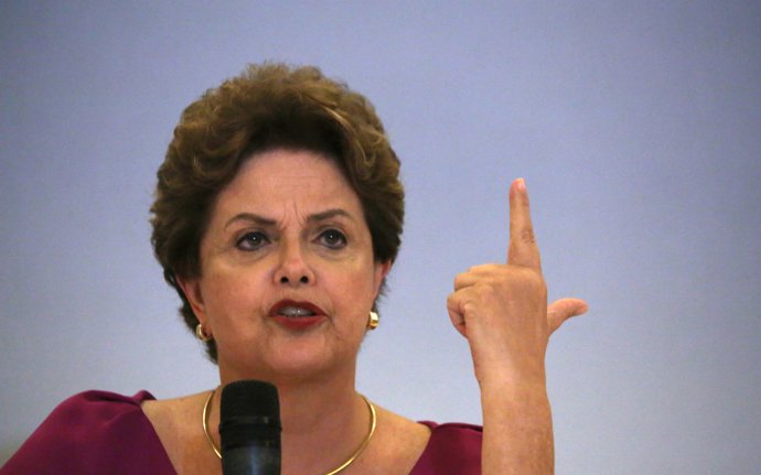
<svg viewBox="0 0 761 475">
<path fill-rule="evenodd" d="M 178 278 L 201 277 L 201 240 L 219 192 L 243 162 L 276 148 L 334 160 L 360 198 L 374 259 L 396 259 L 404 222 L 399 160 L 372 104 L 317 67 L 250 65 L 185 108 L 158 171 L 151 244 L 191 331 L 199 320 Z M 213 339 L 206 353 L 216 363 Z"/>
</svg>

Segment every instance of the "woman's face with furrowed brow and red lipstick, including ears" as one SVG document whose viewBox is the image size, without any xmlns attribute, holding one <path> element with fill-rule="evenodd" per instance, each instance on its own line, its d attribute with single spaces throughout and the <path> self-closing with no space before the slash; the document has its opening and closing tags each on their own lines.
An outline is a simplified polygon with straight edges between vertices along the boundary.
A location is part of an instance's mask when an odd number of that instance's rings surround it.
<svg viewBox="0 0 761 475">
<path fill-rule="evenodd" d="M 217 344 L 223 382 L 353 375 L 389 263 L 335 163 L 276 149 L 243 164 L 214 205 L 201 274 L 182 287 Z"/>
</svg>

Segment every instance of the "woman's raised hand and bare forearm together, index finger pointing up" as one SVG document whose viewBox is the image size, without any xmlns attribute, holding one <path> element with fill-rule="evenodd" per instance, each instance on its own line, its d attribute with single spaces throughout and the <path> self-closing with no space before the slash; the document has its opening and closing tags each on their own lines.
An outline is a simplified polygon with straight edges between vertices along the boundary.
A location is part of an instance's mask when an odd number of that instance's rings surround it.
<svg viewBox="0 0 761 475">
<path fill-rule="evenodd" d="M 510 187 L 507 263 L 476 266 L 459 274 L 447 310 L 468 338 L 481 386 L 482 473 L 551 474 L 547 342 L 566 319 L 586 312 L 587 304 L 562 299 L 547 306 L 523 180 Z"/>
</svg>

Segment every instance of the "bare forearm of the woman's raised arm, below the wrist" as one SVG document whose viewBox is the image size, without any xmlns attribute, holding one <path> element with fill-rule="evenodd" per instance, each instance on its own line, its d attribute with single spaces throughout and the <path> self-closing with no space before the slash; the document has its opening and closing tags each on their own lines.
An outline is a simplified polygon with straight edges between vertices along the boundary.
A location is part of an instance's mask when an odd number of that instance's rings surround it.
<svg viewBox="0 0 761 475">
<path fill-rule="evenodd" d="M 482 384 L 481 404 L 484 475 L 554 473 L 553 418 L 544 384 Z"/>
</svg>

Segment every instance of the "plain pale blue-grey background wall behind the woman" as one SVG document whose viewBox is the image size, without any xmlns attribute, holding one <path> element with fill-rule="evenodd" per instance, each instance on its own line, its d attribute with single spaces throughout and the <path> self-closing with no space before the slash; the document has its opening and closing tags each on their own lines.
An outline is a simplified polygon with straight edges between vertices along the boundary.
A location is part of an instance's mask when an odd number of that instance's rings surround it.
<svg viewBox="0 0 761 475">
<path fill-rule="evenodd" d="M 110 4 L 110 6 L 107 6 Z M 376 105 L 407 226 L 360 389 L 480 422 L 455 273 L 525 176 L 550 298 L 559 474 L 761 466 L 761 4 L 0 1 L 0 446 L 88 388 L 202 391 L 148 207 L 180 111 L 267 58 Z"/>
</svg>

